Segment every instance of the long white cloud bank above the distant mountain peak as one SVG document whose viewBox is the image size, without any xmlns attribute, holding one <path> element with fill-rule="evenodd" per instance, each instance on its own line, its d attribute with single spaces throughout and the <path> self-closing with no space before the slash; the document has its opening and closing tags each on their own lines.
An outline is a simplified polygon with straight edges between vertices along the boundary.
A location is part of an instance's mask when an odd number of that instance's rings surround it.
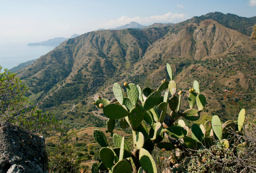
<svg viewBox="0 0 256 173">
<path fill-rule="evenodd" d="M 117 26 L 121 26 L 121 25 L 125 25 L 127 23 L 130 23 L 132 21 L 134 22 L 138 22 L 139 24 L 142 25 L 152 25 L 153 23 L 175 23 L 175 22 L 180 22 L 182 20 L 185 20 L 188 16 L 185 14 L 178 14 L 178 13 L 172 13 L 172 12 L 168 12 L 166 14 L 163 15 L 156 15 L 156 16 L 150 16 L 150 17 L 145 17 L 145 18 L 141 18 L 139 16 L 134 17 L 134 18 L 130 18 L 127 16 L 122 16 L 121 18 L 117 19 L 117 20 L 110 20 L 108 23 L 105 23 L 104 25 L 102 25 L 102 27 L 107 28 L 107 27 L 117 27 Z"/>
</svg>

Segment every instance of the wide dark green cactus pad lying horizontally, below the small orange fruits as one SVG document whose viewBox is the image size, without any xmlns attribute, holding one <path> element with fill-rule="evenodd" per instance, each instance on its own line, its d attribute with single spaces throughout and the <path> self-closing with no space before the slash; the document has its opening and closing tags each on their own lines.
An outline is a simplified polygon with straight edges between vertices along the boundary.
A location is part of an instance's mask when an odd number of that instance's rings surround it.
<svg viewBox="0 0 256 173">
<path fill-rule="evenodd" d="M 103 113 L 106 117 L 111 119 L 124 118 L 129 114 L 123 106 L 117 104 L 108 104 L 104 106 Z"/>
</svg>

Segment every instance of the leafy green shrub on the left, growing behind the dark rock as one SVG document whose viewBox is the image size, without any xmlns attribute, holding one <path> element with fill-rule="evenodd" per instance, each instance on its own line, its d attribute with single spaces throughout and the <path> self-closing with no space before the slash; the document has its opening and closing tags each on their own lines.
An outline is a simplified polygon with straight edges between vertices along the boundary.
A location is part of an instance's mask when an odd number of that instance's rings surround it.
<svg viewBox="0 0 256 173">
<path fill-rule="evenodd" d="M 53 114 L 43 114 L 25 97 L 28 88 L 16 74 L 0 66 L 0 122 L 10 122 L 38 136 L 44 136 L 51 172 L 74 172 L 76 153 L 66 145 L 74 132 L 69 126 L 57 121 Z M 51 140 L 55 136 L 54 142 Z M 57 136 L 57 138 L 56 138 Z M 56 140 L 57 139 L 57 140 Z"/>
</svg>

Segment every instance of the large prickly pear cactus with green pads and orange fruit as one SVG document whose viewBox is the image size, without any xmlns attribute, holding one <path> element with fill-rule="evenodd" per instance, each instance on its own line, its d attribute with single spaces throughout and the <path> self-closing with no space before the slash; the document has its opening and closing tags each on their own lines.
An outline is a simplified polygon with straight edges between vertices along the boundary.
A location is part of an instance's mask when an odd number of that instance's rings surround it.
<svg viewBox="0 0 256 173">
<path fill-rule="evenodd" d="M 167 64 L 166 68 L 171 80 L 162 81 L 157 90 L 148 87 L 141 90 L 139 85 L 124 83 L 128 96 L 124 97 L 122 87 L 114 83 L 115 99 L 108 101 L 98 98 L 95 101 L 95 105 L 103 105 L 101 106 L 103 113 L 109 118 L 107 122 L 109 132 L 113 132 L 117 119 L 120 119 L 120 127 L 132 129 L 134 150 L 132 153 L 128 151 L 124 137 L 117 134 L 113 135 L 115 148 L 110 148 L 104 133 L 95 129 L 93 137 L 103 148 L 100 150 L 100 163 L 92 166 L 92 172 L 108 169 L 109 172 L 116 173 L 132 171 L 156 173 L 156 163 L 150 154 L 155 146 L 180 152 L 186 149 L 197 149 L 202 144 L 211 145 L 214 136 L 219 140 L 223 140 L 224 136 L 229 141 L 230 128 L 236 127 L 241 131 L 245 114 L 243 111 L 240 112 L 241 115 L 239 114 L 238 122 L 221 124 L 219 117 L 215 115 L 212 117 L 212 122 L 207 121 L 200 126 L 193 124 L 189 130 L 180 118 L 189 121 L 198 120 L 200 112 L 206 105 L 206 98 L 200 92 L 199 83 L 194 81 L 194 88 L 188 95 L 189 108 L 181 111 L 182 92 L 177 93 L 178 86 L 172 78 L 171 66 Z M 167 114 L 168 106 L 171 109 L 170 114 Z M 190 131 L 191 136 L 188 136 Z M 164 138 L 169 142 L 163 142 Z M 227 144 L 226 140 L 223 142 Z M 181 154 L 173 154 L 173 157 L 177 156 L 182 157 Z"/>
</svg>

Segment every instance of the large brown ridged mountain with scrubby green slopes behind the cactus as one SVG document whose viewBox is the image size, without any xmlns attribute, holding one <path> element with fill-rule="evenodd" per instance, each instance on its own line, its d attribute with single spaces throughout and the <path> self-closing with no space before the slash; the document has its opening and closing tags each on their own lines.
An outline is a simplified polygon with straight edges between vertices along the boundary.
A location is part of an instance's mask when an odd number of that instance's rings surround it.
<svg viewBox="0 0 256 173">
<path fill-rule="evenodd" d="M 235 90 L 236 99 L 243 98 L 242 107 L 255 107 L 255 57 L 256 44 L 249 36 L 194 17 L 163 27 L 85 33 L 61 43 L 17 74 L 29 86 L 32 102 L 78 125 L 96 109 L 92 102 L 97 95 L 113 98 L 114 82 L 156 88 L 166 78 L 169 63 L 185 95 L 194 80 L 200 83 L 207 98 L 204 113 L 230 118 L 236 110 L 223 98 L 224 90 Z M 187 100 L 182 105 L 188 105 Z"/>
</svg>

